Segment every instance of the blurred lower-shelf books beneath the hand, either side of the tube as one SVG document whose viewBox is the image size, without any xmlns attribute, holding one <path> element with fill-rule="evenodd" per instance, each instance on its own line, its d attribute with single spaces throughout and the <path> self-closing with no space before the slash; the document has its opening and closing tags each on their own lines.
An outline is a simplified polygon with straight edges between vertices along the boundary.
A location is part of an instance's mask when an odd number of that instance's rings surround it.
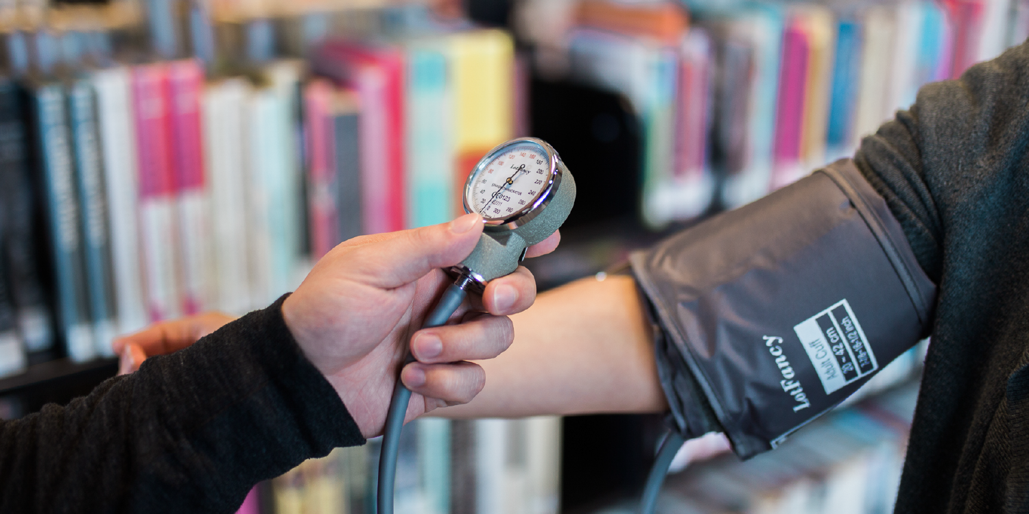
<svg viewBox="0 0 1029 514">
<path fill-rule="evenodd" d="M 404 427 L 395 510 L 403 514 L 556 514 L 557 417 L 448 421 Z M 338 448 L 261 484 L 238 514 L 375 512 L 379 439 Z"/>
</svg>

